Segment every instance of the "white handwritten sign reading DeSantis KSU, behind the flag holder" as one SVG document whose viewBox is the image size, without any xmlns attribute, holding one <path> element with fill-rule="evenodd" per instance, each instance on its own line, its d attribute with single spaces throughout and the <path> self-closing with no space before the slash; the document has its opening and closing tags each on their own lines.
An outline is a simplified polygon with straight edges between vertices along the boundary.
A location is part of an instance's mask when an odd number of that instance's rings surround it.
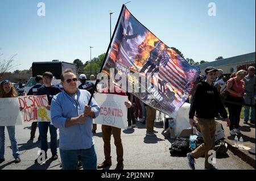
<svg viewBox="0 0 256 181">
<path fill-rule="evenodd" d="M 93 120 L 94 123 L 127 129 L 125 102 L 128 96 L 95 93 L 94 99 L 101 108 L 100 115 Z"/>
</svg>

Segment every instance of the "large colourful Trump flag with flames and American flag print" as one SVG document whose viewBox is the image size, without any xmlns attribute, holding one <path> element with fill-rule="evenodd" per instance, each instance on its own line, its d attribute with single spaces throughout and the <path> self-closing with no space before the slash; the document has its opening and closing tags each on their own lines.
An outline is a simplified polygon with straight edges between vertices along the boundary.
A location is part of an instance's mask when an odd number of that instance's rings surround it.
<svg viewBox="0 0 256 181">
<path fill-rule="evenodd" d="M 105 60 L 102 72 L 113 72 L 115 83 L 122 89 L 169 116 L 188 99 L 200 73 L 199 68 L 189 65 L 144 27 L 124 5 Z M 118 77 L 125 77 L 127 85 Z"/>
</svg>

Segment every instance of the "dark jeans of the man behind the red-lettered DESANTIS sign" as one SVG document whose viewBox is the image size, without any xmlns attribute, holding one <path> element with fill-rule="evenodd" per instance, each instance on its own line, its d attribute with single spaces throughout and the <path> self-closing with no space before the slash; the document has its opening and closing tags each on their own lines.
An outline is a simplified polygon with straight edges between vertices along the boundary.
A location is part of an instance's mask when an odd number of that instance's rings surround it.
<svg viewBox="0 0 256 181">
<path fill-rule="evenodd" d="M 47 155 L 48 150 L 48 141 L 47 141 L 47 132 L 49 131 L 51 134 L 51 152 L 52 155 L 57 154 L 57 128 L 55 128 L 50 122 L 38 122 L 39 134 L 40 134 L 40 142 L 41 142 L 41 150 Z"/>
</svg>

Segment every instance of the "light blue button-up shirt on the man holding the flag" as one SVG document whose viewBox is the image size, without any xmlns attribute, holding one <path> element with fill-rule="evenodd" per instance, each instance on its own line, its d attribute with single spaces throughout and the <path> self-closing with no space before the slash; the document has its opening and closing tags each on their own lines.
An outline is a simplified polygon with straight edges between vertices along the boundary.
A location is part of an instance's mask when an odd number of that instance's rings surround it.
<svg viewBox="0 0 256 181">
<path fill-rule="evenodd" d="M 53 96 L 51 104 L 51 119 L 56 128 L 59 128 L 59 148 L 63 150 L 89 149 L 94 145 L 92 134 L 92 117 L 87 116 L 84 124 L 76 124 L 65 127 L 67 118 L 77 117 L 84 113 L 85 105 L 88 104 L 90 93 L 86 90 L 77 90 L 77 103 L 62 91 Z M 92 98 L 90 107 L 95 117 L 100 113 L 100 107 Z"/>
</svg>

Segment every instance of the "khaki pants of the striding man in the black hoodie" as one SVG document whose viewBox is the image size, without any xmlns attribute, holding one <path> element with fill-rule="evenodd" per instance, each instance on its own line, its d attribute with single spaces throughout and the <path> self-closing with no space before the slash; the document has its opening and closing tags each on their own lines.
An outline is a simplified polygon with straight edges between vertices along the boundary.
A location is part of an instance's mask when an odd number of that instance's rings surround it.
<svg viewBox="0 0 256 181">
<path fill-rule="evenodd" d="M 210 163 L 208 162 L 208 151 L 214 149 L 215 145 L 215 131 L 216 131 L 216 124 L 215 120 L 213 119 L 202 119 L 197 118 L 198 126 L 201 131 L 201 135 L 204 138 L 204 143 L 197 147 L 195 150 L 192 151 L 191 156 L 193 158 L 199 158 L 202 155 L 205 155 L 205 168 L 210 167 Z"/>
</svg>

